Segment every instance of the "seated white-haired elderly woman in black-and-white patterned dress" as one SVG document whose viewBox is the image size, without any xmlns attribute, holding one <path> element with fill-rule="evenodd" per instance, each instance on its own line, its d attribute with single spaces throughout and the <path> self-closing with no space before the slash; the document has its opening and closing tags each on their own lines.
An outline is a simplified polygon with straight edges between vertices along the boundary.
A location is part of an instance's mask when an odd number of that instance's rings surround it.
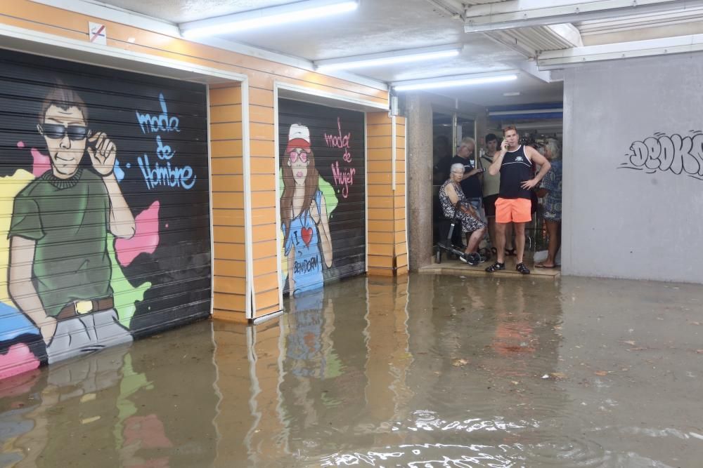
<svg viewBox="0 0 703 468">
<path fill-rule="evenodd" d="M 471 206 L 459 185 L 463 175 L 463 164 L 451 165 L 449 179 L 439 189 L 439 203 L 441 203 L 444 216 L 450 220 L 454 216 L 454 207 L 459 203 L 459 213 L 456 216 L 461 222 L 461 232 L 466 234 L 467 245 L 464 253 L 472 253 L 476 251 L 479 242 L 483 239 L 486 225 L 481 221 L 481 217 L 475 208 Z M 467 261 L 464 256 L 460 260 L 463 262 Z"/>
</svg>

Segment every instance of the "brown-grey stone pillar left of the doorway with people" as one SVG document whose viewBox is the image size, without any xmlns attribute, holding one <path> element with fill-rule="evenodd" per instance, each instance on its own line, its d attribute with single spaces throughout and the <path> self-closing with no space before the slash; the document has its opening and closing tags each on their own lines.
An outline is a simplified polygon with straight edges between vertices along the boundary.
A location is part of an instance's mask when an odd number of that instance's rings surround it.
<svg viewBox="0 0 703 468">
<path fill-rule="evenodd" d="M 421 94 L 406 100 L 408 126 L 408 264 L 432 262 L 432 107 Z"/>
</svg>

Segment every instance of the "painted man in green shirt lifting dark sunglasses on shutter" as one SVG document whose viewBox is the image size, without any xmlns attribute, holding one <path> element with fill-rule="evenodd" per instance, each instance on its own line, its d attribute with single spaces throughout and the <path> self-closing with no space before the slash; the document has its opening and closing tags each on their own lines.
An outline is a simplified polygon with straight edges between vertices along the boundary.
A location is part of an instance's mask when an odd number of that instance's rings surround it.
<svg viewBox="0 0 703 468">
<path fill-rule="evenodd" d="M 115 142 L 91 131 L 75 91 L 61 83 L 49 91 L 37 130 L 51 169 L 15 196 L 8 283 L 52 363 L 131 342 L 112 297 L 107 237 L 129 239 L 135 223 L 113 173 Z"/>
</svg>

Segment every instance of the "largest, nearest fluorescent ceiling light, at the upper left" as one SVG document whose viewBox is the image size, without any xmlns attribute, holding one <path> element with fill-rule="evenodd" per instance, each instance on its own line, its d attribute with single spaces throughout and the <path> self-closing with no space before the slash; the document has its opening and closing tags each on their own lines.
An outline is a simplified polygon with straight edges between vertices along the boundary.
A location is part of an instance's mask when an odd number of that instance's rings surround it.
<svg viewBox="0 0 703 468">
<path fill-rule="evenodd" d="M 292 4 L 260 8 L 259 10 L 217 16 L 205 20 L 183 22 L 179 25 L 183 37 L 192 39 L 214 34 L 234 34 L 257 27 L 302 22 L 354 11 L 356 0 L 303 0 Z"/>
</svg>

